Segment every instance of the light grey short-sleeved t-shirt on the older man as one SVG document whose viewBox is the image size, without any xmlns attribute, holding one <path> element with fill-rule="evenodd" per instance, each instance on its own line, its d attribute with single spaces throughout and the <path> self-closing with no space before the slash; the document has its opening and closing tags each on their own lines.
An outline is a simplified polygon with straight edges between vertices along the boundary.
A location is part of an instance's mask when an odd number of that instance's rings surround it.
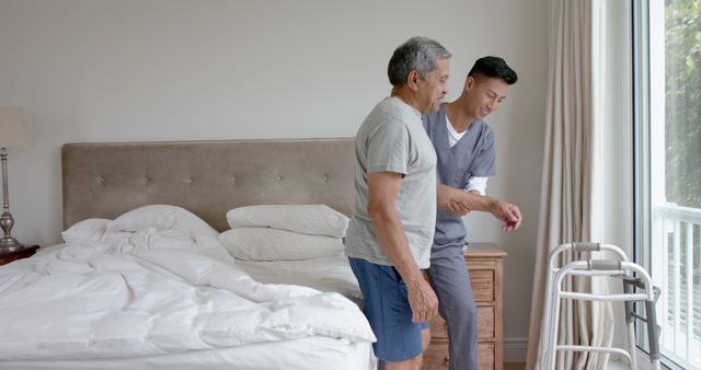
<svg viewBox="0 0 701 370">
<path fill-rule="evenodd" d="M 397 97 L 370 112 L 355 138 L 355 206 L 346 231 L 346 255 L 391 266 L 368 217 L 368 173 L 403 175 L 394 206 L 420 268 L 429 265 L 436 226 L 436 152 L 421 113 Z"/>
</svg>

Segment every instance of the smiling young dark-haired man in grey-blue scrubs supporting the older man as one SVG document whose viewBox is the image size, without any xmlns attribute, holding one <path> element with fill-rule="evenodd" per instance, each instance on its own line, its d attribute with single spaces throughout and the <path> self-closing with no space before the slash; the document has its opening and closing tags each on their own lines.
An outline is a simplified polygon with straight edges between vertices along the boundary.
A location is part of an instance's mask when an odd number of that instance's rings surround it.
<svg viewBox="0 0 701 370">
<path fill-rule="evenodd" d="M 451 370 L 478 369 L 476 307 L 464 265 L 467 232 L 460 216 L 489 211 L 504 222 L 505 231 L 521 223 L 518 207 L 484 195 L 487 176 L 495 174 L 494 134 L 484 118 L 498 108 L 517 79 L 504 59 L 481 58 L 468 73 L 460 97 L 423 117 L 437 155 L 440 206 L 428 276 L 448 323 Z"/>
</svg>

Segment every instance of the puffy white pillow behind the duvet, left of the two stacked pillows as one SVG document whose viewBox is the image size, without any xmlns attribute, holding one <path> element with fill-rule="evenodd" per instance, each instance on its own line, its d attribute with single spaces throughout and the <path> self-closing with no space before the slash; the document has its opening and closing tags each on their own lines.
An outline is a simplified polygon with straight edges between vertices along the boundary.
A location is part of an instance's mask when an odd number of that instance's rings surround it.
<svg viewBox="0 0 701 370">
<path fill-rule="evenodd" d="M 176 230 L 193 239 L 200 234 L 215 238 L 219 234 L 195 213 L 185 208 L 169 205 L 149 205 L 133 209 L 110 221 L 106 231 L 136 232 L 148 228 Z"/>
</svg>

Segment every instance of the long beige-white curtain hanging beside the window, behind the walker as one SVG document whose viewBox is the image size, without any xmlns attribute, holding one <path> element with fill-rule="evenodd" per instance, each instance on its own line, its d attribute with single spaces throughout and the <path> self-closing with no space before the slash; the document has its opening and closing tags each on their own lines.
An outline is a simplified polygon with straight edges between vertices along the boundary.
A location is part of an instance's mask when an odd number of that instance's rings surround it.
<svg viewBox="0 0 701 370">
<path fill-rule="evenodd" d="M 531 301 L 527 369 L 542 369 L 548 347 L 543 297 L 548 254 L 562 244 L 601 241 L 600 130 L 606 37 L 604 0 L 548 0 L 549 77 L 547 137 L 538 250 Z M 599 82 L 599 83 L 597 83 Z M 605 242 L 605 241 L 601 241 Z M 564 264 L 583 256 L 563 255 Z M 566 282 L 577 291 L 604 292 L 600 281 Z M 593 286 L 594 284 L 594 286 Z M 560 343 L 608 346 L 612 340 L 610 304 L 562 303 Z M 561 352 L 555 369 L 605 369 L 608 355 Z"/>
</svg>

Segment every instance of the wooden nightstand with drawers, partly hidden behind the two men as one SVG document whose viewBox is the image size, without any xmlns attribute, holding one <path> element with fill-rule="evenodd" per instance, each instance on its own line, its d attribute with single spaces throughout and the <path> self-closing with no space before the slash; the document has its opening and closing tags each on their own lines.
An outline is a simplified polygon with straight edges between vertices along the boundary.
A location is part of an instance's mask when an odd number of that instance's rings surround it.
<svg viewBox="0 0 701 370">
<path fill-rule="evenodd" d="M 478 307 L 478 367 L 504 368 L 503 275 L 506 252 L 494 243 L 470 243 L 464 262 L 470 270 L 472 294 Z M 448 327 L 436 317 L 430 322 L 430 344 L 424 351 L 423 370 L 448 369 Z"/>
</svg>

